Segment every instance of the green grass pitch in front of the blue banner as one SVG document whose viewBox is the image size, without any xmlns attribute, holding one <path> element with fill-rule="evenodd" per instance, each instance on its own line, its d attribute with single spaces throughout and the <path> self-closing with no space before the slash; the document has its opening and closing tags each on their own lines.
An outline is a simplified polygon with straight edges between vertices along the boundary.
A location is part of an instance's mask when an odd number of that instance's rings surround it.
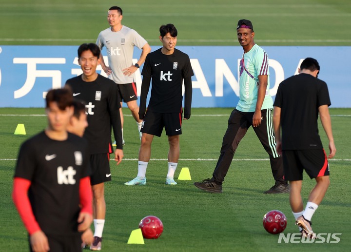
<svg viewBox="0 0 351 252">
<path fill-rule="evenodd" d="M 113 181 L 106 183 L 103 251 L 348 251 L 351 245 L 351 179 L 347 175 L 351 164 L 351 109 L 330 111 L 337 154 L 330 160 L 331 186 L 313 216 L 313 230 L 316 233 L 342 233 L 340 243 L 278 244 L 278 236 L 263 229 L 263 215 L 277 209 L 288 219 L 284 233 L 298 232 L 289 195 L 262 193 L 273 185 L 273 177 L 268 155 L 253 130 L 249 130 L 234 155 L 223 184 L 223 194 L 205 193 L 195 188 L 195 181 L 212 175 L 231 109 L 193 109 L 190 120 L 183 122 L 181 155 L 175 178 L 182 167 L 189 167 L 192 181 L 176 180 L 176 186 L 164 185 L 168 143 L 163 133 L 152 145 L 148 184 L 125 186 L 123 183 L 137 174 L 139 139 L 134 119 L 124 109 L 125 156 L 119 166 L 111 161 Z M 4 251 L 28 251 L 27 234 L 11 200 L 12 176 L 21 142 L 44 129 L 46 117 L 42 108 L 1 108 L 0 120 L 0 247 L 5 248 Z M 18 123 L 25 125 L 27 135 L 14 135 Z M 326 136 L 320 129 L 327 147 Z M 307 175 L 305 179 L 303 197 L 306 200 L 314 180 Z M 145 245 L 128 245 L 131 231 L 138 228 L 140 219 L 146 215 L 158 216 L 163 221 L 164 232 L 159 239 L 145 239 Z"/>
</svg>

